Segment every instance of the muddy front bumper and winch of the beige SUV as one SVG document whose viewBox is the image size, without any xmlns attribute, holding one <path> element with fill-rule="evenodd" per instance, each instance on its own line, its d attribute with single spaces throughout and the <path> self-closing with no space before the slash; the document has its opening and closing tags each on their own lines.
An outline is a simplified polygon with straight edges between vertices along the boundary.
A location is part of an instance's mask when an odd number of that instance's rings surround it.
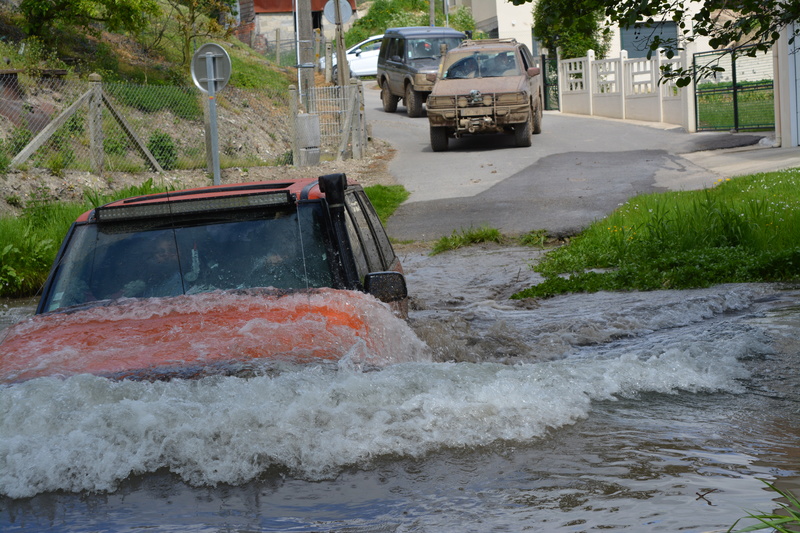
<svg viewBox="0 0 800 533">
<path fill-rule="evenodd" d="M 473 90 L 456 96 L 430 96 L 427 109 L 432 127 L 451 128 L 456 136 L 500 132 L 530 119 L 530 103 L 524 93 Z"/>
</svg>

